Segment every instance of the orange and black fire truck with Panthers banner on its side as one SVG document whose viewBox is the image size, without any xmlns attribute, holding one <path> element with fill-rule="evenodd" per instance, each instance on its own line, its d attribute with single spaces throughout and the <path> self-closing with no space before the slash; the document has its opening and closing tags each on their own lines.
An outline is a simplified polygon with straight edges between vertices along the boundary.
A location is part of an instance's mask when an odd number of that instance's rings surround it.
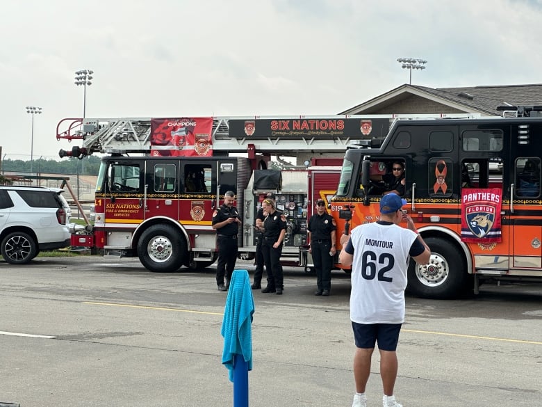
<svg viewBox="0 0 542 407">
<path fill-rule="evenodd" d="M 404 209 L 432 251 L 428 265 L 409 264 L 413 294 L 452 298 L 477 294 L 486 280 L 542 282 L 542 106 L 500 110 L 503 117 L 400 120 L 381 141 L 350 146 L 331 199 L 337 237 L 378 220 L 381 175 L 398 162 Z"/>
</svg>

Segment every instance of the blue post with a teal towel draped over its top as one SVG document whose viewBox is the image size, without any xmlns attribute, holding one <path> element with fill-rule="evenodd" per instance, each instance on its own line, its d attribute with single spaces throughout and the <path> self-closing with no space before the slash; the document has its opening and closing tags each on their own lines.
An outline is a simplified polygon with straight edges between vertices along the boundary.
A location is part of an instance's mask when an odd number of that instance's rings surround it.
<svg viewBox="0 0 542 407">
<path fill-rule="evenodd" d="M 235 270 L 229 284 L 222 336 L 222 364 L 233 382 L 233 407 L 248 407 L 248 371 L 252 370 L 252 314 L 254 298 L 247 270 Z"/>
</svg>

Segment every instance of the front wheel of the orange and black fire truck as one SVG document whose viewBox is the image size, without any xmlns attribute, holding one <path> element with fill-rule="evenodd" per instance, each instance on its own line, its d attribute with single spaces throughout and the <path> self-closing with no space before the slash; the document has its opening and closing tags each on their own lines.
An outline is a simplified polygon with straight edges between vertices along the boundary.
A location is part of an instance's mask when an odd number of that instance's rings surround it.
<svg viewBox="0 0 542 407">
<path fill-rule="evenodd" d="M 409 292 L 423 298 L 454 298 L 464 294 L 469 276 L 466 260 L 451 241 L 428 237 L 429 264 L 409 264 Z"/>
</svg>

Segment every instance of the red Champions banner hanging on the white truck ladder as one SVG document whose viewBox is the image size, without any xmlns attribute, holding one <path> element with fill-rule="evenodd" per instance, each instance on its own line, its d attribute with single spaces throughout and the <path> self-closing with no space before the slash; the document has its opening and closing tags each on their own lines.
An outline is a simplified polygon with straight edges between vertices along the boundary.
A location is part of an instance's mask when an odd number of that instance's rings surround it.
<svg viewBox="0 0 542 407">
<path fill-rule="evenodd" d="M 213 118 L 151 119 L 151 155 L 211 156 Z"/>
</svg>

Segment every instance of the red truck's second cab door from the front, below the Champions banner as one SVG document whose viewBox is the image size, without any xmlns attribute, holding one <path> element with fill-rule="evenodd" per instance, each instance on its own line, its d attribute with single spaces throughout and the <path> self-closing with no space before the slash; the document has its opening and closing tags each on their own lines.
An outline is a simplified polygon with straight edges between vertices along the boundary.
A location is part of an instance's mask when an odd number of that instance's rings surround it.
<svg viewBox="0 0 542 407">
<path fill-rule="evenodd" d="M 179 191 L 183 188 L 179 160 L 147 161 L 147 207 L 145 218 L 166 216 L 179 219 Z"/>
</svg>

